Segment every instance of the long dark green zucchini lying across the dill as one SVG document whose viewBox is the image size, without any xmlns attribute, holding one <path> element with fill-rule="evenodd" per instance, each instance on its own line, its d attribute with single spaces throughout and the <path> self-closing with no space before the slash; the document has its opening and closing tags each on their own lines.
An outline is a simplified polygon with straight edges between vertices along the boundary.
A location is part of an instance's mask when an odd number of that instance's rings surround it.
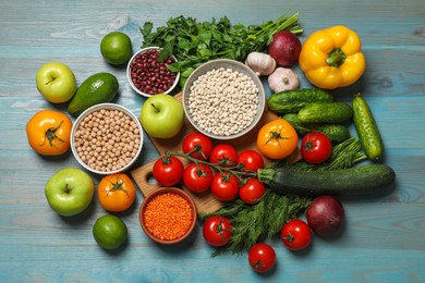
<svg viewBox="0 0 425 283">
<path fill-rule="evenodd" d="M 392 184 L 396 172 L 385 164 L 307 172 L 295 171 L 286 165 L 277 169 L 258 169 L 258 180 L 281 195 L 366 195 Z"/>
</svg>

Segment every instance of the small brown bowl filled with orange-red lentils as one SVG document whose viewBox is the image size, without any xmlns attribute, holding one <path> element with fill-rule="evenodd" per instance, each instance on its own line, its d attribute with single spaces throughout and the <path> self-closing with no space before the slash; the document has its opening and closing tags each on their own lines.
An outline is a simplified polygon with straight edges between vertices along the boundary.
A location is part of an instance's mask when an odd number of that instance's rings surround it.
<svg viewBox="0 0 425 283">
<path fill-rule="evenodd" d="M 160 187 L 143 200 L 138 219 L 146 235 L 159 244 L 185 239 L 196 224 L 196 207 L 183 189 Z"/>
</svg>

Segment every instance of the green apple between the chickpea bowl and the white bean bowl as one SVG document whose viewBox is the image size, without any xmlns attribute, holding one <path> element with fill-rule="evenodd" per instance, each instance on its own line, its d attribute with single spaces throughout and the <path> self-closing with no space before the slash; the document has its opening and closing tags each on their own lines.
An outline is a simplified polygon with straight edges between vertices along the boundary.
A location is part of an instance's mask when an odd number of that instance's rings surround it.
<svg viewBox="0 0 425 283">
<path fill-rule="evenodd" d="M 154 95 L 143 104 L 139 119 L 149 136 L 170 138 L 183 126 L 183 104 L 171 95 Z"/>
</svg>

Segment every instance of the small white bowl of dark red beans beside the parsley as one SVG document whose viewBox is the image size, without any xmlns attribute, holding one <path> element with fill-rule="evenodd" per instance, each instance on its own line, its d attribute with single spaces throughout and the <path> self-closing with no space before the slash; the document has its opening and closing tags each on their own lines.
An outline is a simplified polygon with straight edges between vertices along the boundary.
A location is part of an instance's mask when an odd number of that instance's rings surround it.
<svg viewBox="0 0 425 283">
<path fill-rule="evenodd" d="M 161 50 L 159 47 L 143 48 L 129 61 L 126 75 L 130 85 L 144 97 L 170 94 L 179 83 L 180 73 L 168 67 L 177 62 L 175 57 L 162 59 Z"/>
</svg>

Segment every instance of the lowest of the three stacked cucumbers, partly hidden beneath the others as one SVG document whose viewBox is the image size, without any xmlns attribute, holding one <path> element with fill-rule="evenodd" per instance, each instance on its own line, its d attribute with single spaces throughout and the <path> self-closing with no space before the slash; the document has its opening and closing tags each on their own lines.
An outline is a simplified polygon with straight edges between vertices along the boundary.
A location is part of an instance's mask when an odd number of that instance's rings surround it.
<svg viewBox="0 0 425 283">
<path fill-rule="evenodd" d="M 299 115 L 295 113 L 287 113 L 283 115 L 301 136 L 305 136 L 312 132 L 319 132 L 327 135 L 333 145 L 340 144 L 351 137 L 350 130 L 341 124 L 303 124 Z"/>
</svg>

